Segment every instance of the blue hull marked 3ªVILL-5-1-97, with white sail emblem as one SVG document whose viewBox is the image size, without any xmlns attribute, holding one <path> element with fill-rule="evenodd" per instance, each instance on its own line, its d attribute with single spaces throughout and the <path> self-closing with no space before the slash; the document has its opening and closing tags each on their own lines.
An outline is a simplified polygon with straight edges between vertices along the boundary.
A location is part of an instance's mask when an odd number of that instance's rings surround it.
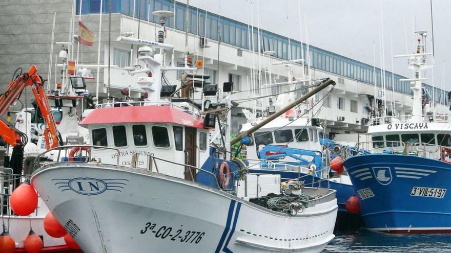
<svg viewBox="0 0 451 253">
<path fill-rule="evenodd" d="M 411 155 L 350 157 L 343 166 L 368 229 L 389 233 L 451 233 L 451 165 Z"/>
</svg>

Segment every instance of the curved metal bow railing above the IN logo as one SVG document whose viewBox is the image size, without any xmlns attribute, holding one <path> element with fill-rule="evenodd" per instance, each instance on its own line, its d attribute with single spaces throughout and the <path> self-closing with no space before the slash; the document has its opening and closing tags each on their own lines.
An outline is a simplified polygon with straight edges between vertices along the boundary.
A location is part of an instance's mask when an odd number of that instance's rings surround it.
<svg viewBox="0 0 451 253">
<path fill-rule="evenodd" d="M 116 167 L 119 166 L 119 158 L 120 152 L 117 148 L 105 147 L 105 146 L 96 146 L 96 145 L 64 145 L 58 146 L 55 148 L 51 148 L 46 150 L 36 156 L 34 159 L 33 165 L 34 168 L 39 168 L 45 162 L 75 162 L 75 163 L 87 163 L 87 162 L 96 162 L 101 163 L 101 158 L 93 156 L 93 151 L 101 151 L 101 150 L 113 150 L 115 151 L 116 156 Z M 56 155 L 50 155 L 50 152 L 55 152 Z M 71 151 L 74 151 L 74 154 L 71 155 Z M 80 152 L 79 155 L 76 155 L 77 152 Z M 85 155 L 82 155 L 83 152 Z M 56 157 L 55 157 L 56 156 Z M 49 158 L 51 157 L 51 158 Z M 114 164 L 113 164 L 114 165 Z"/>
</svg>

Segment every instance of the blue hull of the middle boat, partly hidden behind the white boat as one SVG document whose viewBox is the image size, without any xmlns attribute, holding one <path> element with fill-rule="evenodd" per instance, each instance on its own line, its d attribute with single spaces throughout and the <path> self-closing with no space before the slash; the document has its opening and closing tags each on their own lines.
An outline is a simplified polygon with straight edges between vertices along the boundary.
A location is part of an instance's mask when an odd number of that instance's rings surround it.
<svg viewBox="0 0 451 253">
<path fill-rule="evenodd" d="M 295 179 L 295 178 L 302 176 L 302 178 L 300 180 L 305 181 L 306 187 L 327 188 L 328 187 L 327 184 L 330 183 L 330 188 L 337 191 L 336 197 L 337 197 L 337 204 L 338 204 L 338 212 L 347 213 L 346 200 L 349 197 L 354 195 L 353 186 L 345 185 L 343 183 L 338 183 L 338 182 L 327 181 L 324 179 L 321 180 L 320 177 L 316 177 L 313 175 L 307 175 L 304 173 L 298 173 L 298 172 L 286 171 L 286 170 L 274 170 L 274 169 L 249 169 L 249 172 L 254 173 L 254 174 L 280 174 L 281 178 L 290 178 L 290 179 Z M 319 185 L 320 180 L 321 180 L 321 185 Z M 314 182 L 314 183 L 312 184 L 312 182 Z"/>
</svg>

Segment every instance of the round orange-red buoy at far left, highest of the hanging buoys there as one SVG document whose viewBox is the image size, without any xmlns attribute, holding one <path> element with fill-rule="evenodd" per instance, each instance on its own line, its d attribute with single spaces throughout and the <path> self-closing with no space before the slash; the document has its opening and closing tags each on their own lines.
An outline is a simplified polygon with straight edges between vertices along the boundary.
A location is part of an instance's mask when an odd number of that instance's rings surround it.
<svg viewBox="0 0 451 253">
<path fill-rule="evenodd" d="M 11 193 L 10 201 L 15 214 L 27 216 L 37 208 L 37 193 L 30 182 L 26 181 Z"/>
</svg>

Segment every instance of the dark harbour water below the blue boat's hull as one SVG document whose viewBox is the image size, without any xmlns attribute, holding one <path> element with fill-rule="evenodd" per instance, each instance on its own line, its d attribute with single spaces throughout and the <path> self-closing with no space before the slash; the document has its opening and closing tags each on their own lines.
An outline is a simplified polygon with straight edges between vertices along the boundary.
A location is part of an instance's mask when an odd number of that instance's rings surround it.
<svg viewBox="0 0 451 253">
<path fill-rule="evenodd" d="M 332 252 L 451 252 L 451 234 L 395 235 L 367 231 L 335 232 L 323 253 Z"/>
</svg>

